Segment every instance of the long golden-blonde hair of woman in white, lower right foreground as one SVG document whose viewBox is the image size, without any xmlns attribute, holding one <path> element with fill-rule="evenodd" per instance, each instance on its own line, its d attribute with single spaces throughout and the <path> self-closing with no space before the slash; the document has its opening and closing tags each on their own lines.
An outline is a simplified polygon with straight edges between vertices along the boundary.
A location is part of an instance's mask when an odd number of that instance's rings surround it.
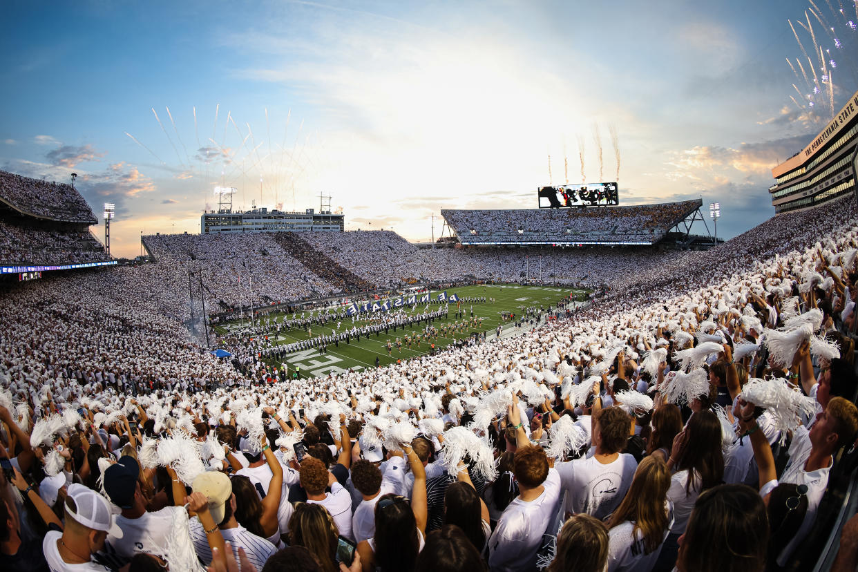
<svg viewBox="0 0 858 572">
<path fill-rule="evenodd" d="M 632 534 L 640 530 L 644 535 L 644 554 L 658 550 L 668 528 L 665 502 L 670 487 L 668 466 L 658 457 L 645 457 L 637 466 L 635 478 L 623 502 L 607 523 L 610 530 L 625 521 L 634 523 Z"/>
</svg>

